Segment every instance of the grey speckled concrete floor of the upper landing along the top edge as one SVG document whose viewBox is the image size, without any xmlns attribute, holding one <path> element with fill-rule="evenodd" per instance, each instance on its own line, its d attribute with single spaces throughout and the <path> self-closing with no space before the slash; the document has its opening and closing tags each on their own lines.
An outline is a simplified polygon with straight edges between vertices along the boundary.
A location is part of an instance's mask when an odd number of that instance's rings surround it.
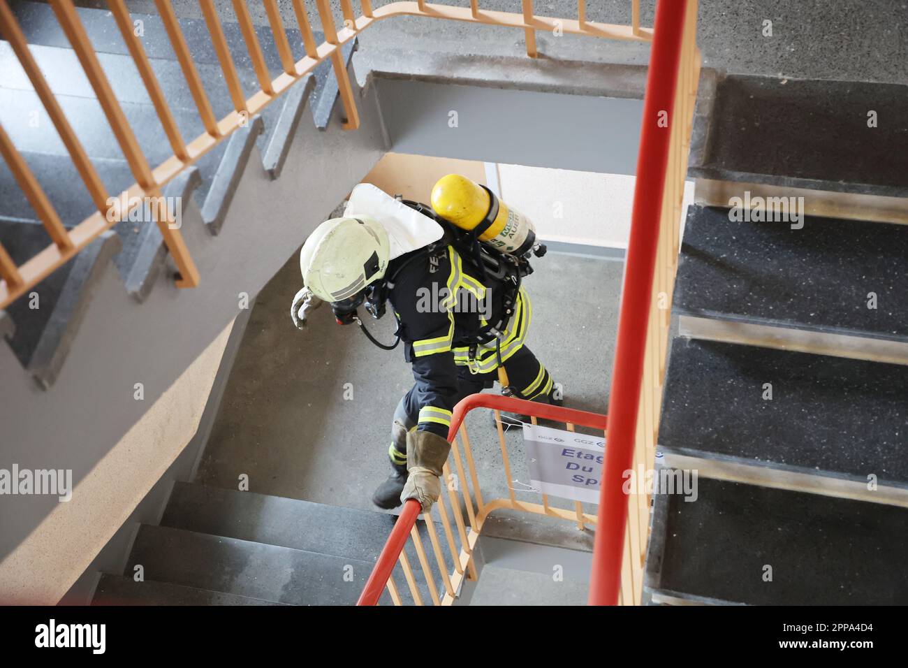
<svg viewBox="0 0 908 668">
<path fill-rule="evenodd" d="M 393 0 L 372 0 L 373 7 Z M 104 6 L 104 0 L 78 4 Z M 216 0 L 222 16 L 232 16 L 230 0 Z M 469 6 L 469 0 L 439 0 Z M 128 0 L 136 12 L 154 13 L 153 0 Z M 201 16 L 196 0 L 174 0 L 178 15 Z M 291 0 L 279 0 L 286 25 L 296 25 Z M 312 24 L 318 13 L 309 2 Z M 340 0 L 331 0 L 340 23 Z M 353 5 L 359 10 L 359 3 Z M 642 0 L 641 24 L 653 25 L 655 0 Z M 252 18 L 267 24 L 262 3 L 249 3 Z M 518 0 L 479 0 L 485 10 L 520 12 Z M 577 0 L 536 0 L 539 15 L 575 18 Z M 587 2 L 590 21 L 628 25 L 630 0 Z M 763 22 L 773 22 L 773 36 Z M 557 37 L 538 32 L 540 53 L 547 58 L 646 65 L 648 47 L 577 35 Z M 700 0 L 697 44 L 704 65 L 729 72 L 798 78 L 842 79 L 908 84 L 908 3 L 904 0 Z M 523 35 L 512 28 L 469 25 L 416 17 L 395 17 L 360 35 L 369 48 L 447 52 L 452 55 L 524 56 Z"/>
</svg>

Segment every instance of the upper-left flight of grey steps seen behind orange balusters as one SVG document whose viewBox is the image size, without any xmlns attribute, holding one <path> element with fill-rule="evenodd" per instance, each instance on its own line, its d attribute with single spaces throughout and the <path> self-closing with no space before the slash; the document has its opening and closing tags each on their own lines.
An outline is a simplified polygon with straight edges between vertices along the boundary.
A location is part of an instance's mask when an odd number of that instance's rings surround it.
<svg viewBox="0 0 908 668">
<path fill-rule="evenodd" d="M 122 192 L 133 184 L 133 174 L 54 11 L 50 5 L 33 2 L 15 3 L 13 9 L 31 45 L 32 55 L 108 191 Z M 113 17 L 98 9 L 79 9 L 78 12 L 139 145 L 151 165 L 161 164 L 172 155 L 173 149 Z M 161 18 L 133 14 L 133 20 L 142 22 L 143 47 L 183 137 L 199 135 L 204 128 Z M 221 118 L 230 113 L 233 106 L 208 28 L 201 19 L 181 19 L 180 25 L 214 115 Z M 224 22 L 222 27 L 228 43 L 234 45 L 233 57 L 243 90 L 251 95 L 258 89 L 258 82 L 249 55 L 242 48 L 239 25 Z M 281 60 L 271 30 L 264 26 L 258 26 L 256 30 L 271 76 L 280 74 Z M 301 58 L 304 51 L 299 31 L 288 30 L 287 34 L 294 57 Z M 320 33 L 315 37 L 318 42 L 323 41 Z M 354 48 L 355 41 L 343 47 L 348 65 Z M 267 106 L 262 115 L 253 118 L 249 125 L 217 145 L 168 184 L 163 195 L 181 202 L 183 212 L 192 199 L 209 232 L 219 234 L 252 155 L 252 146 L 257 147 L 268 177 L 279 178 L 294 135 L 298 134 L 304 109 L 309 107 L 311 122 L 323 131 L 329 124 L 337 98 L 337 79 L 331 72 L 331 65 L 322 63 L 278 102 Z M 44 187 L 64 226 L 70 228 L 93 213 L 95 207 L 63 142 L 44 111 L 38 110 L 42 110 L 41 102 L 12 48 L 7 42 L 0 41 L 0 124 Z M 15 262 L 22 264 L 44 248 L 47 237 L 5 163 L 0 165 L 0 193 L 5 194 L 0 204 L 0 242 Z M 128 294 L 142 302 L 165 271 L 166 257 L 163 238 L 156 225 L 124 220 L 87 252 L 78 254 L 74 261 L 37 286 L 35 293 L 40 308 L 29 304 L 28 298 L 11 304 L 6 317 L 11 326 L 15 326 L 15 334 L 8 336 L 8 341 L 20 364 L 33 375 L 37 384 L 44 389 L 54 384 L 92 300 L 94 286 L 110 260 L 116 265 Z"/>
</svg>

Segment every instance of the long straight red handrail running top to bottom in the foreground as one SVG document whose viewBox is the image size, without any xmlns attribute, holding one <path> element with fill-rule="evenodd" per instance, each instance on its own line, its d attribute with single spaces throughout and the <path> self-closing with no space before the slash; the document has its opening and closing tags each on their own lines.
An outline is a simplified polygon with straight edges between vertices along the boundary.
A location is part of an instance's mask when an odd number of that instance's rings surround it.
<svg viewBox="0 0 908 668">
<path fill-rule="evenodd" d="M 623 484 L 625 472 L 633 466 L 637 408 L 646 356 L 646 327 L 671 125 L 676 120 L 675 87 L 686 9 L 687 0 L 659 0 L 656 5 L 637 156 L 634 211 L 608 402 L 606 461 L 599 490 L 590 605 L 616 605 L 621 583 L 621 554 L 627 523 L 627 494 L 624 494 Z"/>
</svg>

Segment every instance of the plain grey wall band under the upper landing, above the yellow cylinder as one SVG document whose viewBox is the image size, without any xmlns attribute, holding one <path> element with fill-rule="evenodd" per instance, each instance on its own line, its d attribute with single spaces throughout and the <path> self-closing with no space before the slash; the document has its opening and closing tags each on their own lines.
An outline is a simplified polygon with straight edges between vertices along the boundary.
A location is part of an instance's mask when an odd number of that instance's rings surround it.
<svg viewBox="0 0 908 668">
<path fill-rule="evenodd" d="M 607 174 L 636 171 L 641 100 L 414 79 L 378 83 L 398 153 Z"/>
</svg>

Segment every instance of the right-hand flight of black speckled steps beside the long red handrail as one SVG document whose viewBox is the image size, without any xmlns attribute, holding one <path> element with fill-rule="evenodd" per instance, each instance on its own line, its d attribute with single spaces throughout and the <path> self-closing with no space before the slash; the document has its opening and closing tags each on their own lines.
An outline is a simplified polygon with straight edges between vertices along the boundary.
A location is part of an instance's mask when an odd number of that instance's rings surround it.
<svg viewBox="0 0 908 668">
<path fill-rule="evenodd" d="M 655 497 L 653 603 L 908 603 L 905 108 L 902 85 L 701 83 L 659 430 L 698 496 Z M 807 214 L 730 219 L 745 190 Z"/>
</svg>

